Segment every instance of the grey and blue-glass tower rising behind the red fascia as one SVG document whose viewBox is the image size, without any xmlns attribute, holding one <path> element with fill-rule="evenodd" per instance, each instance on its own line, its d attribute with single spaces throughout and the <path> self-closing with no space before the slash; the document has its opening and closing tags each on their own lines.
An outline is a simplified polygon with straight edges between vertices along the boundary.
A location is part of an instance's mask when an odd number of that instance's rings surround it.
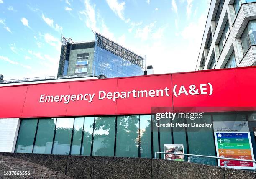
<svg viewBox="0 0 256 179">
<path fill-rule="evenodd" d="M 63 37 L 58 76 L 127 77 L 143 75 L 144 58 L 95 32 L 95 41 Z"/>
</svg>

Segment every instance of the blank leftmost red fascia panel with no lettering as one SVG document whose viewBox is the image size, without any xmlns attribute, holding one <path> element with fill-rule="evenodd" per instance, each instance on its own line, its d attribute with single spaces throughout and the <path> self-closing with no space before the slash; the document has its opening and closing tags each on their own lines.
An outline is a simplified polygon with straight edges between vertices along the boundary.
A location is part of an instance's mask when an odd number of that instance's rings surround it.
<svg viewBox="0 0 256 179">
<path fill-rule="evenodd" d="M 27 88 L 27 86 L 0 87 L 0 118 L 21 116 Z"/>
</svg>

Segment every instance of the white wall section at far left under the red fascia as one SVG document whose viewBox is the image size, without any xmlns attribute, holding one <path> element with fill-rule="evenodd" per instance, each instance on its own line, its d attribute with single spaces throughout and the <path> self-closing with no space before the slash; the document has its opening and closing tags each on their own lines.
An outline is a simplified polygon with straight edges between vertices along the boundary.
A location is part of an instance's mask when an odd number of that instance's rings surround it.
<svg viewBox="0 0 256 179">
<path fill-rule="evenodd" d="M 20 119 L 0 119 L 0 152 L 14 152 Z"/>
</svg>

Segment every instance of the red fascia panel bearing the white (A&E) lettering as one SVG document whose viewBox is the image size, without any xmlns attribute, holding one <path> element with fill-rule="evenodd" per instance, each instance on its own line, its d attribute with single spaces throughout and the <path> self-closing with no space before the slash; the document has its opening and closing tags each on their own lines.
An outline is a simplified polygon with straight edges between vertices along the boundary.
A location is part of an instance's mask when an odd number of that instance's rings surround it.
<svg viewBox="0 0 256 179">
<path fill-rule="evenodd" d="M 210 95 L 210 83 L 212 85 L 212 94 Z M 173 74 L 172 84 L 177 85 L 177 96 L 173 95 L 174 110 L 180 110 L 180 107 L 203 107 L 207 111 L 225 111 L 236 110 L 240 106 L 238 84 L 235 78 L 235 70 L 220 70 L 209 72 Z M 191 95 L 189 86 L 195 85 L 198 93 L 201 93 L 200 84 L 206 84 L 203 92 L 207 94 Z M 184 86 L 188 95 L 181 93 L 179 90 Z M 192 91 L 193 92 L 193 91 Z M 206 109 L 204 107 L 207 107 Z M 200 111 L 193 108 L 190 111 Z"/>
</svg>

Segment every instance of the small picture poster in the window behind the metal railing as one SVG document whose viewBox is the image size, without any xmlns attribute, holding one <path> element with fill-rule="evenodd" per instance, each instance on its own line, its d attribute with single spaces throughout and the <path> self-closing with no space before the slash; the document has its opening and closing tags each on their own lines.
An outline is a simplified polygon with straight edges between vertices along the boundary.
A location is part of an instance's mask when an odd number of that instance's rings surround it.
<svg viewBox="0 0 256 179">
<path fill-rule="evenodd" d="M 179 155 L 179 153 L 184 154 L 183 144 L 164 144 L 165 153 L 177 153 L 177 154 L 164 154 L 164 159 L 185 161 L 184 155 Z"/>
</svg>

